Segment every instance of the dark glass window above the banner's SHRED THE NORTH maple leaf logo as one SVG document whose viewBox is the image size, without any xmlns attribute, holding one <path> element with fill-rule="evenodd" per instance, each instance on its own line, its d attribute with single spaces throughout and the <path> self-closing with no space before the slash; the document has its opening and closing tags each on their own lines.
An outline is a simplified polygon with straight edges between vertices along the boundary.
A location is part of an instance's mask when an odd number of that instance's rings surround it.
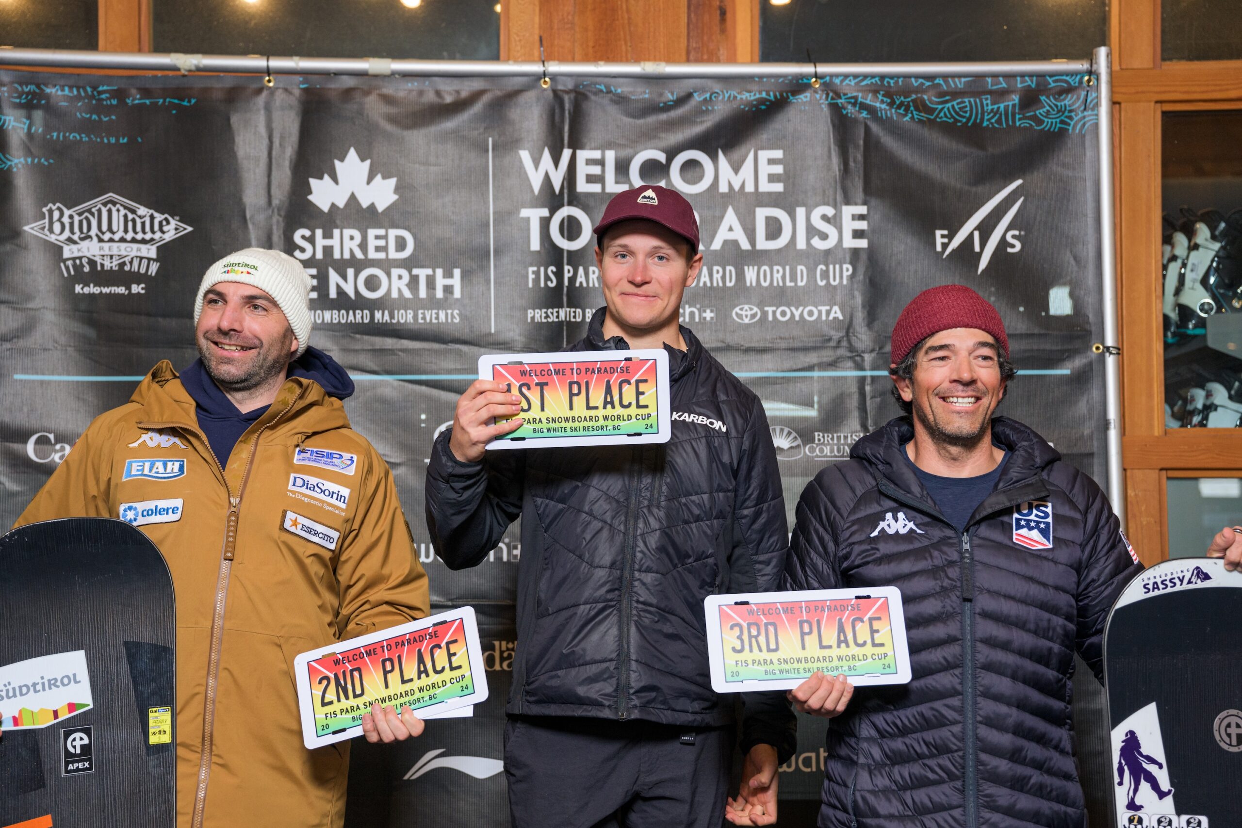
<svg viewBox="0 0 1242 828">
<path fill-rule="evenodd" d="M 156 52 L 494 61 L 499 9 L 496 0 L 152 0 L 153 42 Z"/>
</svg>

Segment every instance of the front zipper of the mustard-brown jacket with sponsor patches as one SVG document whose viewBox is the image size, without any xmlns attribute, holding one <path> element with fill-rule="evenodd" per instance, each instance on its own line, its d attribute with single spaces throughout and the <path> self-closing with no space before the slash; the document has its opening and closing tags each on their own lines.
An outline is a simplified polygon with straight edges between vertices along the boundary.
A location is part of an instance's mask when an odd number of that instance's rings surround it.
<svg viewBox="0 0 1242 828">
<path fill-rule="evenodd" d="M 250 480 L 250 469 L 255 461 L 255 451 L 258 448 L 258 438 L 272 425 L 287 415 L 301 396 L 301 394 L 294 395 L 294 397 L 289 400 L 289 405 L 284 406 L 284 410 L 281 413 L 273 417 L 270 423 L 255 432 L 255 436 L 250 441 L 250 454 L 246 457 L 246 468 L 242 470 L 241 485 L 237 488 L 236 495 L 229 485 L 227 475 L 224 477 L 225 489 L 229 492 L 229 514 L 225 518 L 225 539 L 220 549 L 220 571 L 216 576 L 216 600 L 212 605 L 211 614 L 211 647 L 207 649 L 207 684 L 202 699 L 202 750 L 199 754 L 199 778 L 194 792 L 194 816 L 190 822 L 191 828 L 202 828 L 202 821 L 207 804 L 207 781 L 211 778 L 212 742 L 215 741 L 216 685 L 220 680 L 220 649 L 225 634 L 225 605 L 229 598 L 229 581 L 232 575 L 233 557 L 237 552 L 237 519 L 241 513 L 241 499 L 242 495 L 246 494 L 246 483 Z M 224 474 L 225 467 L 220 462 L 220 458 L 216 457 L 215 449 L 211 448 L 211 442 L 207 441 L 206 434 L 204 434 L 201 430 L 184 423 L 159 425 L 163 427 L 185 428 L 196 433 L 207 447 L 207 453 L 211 454 L 216 466 L 220 467 L 221 474 Z"/>
</svg>

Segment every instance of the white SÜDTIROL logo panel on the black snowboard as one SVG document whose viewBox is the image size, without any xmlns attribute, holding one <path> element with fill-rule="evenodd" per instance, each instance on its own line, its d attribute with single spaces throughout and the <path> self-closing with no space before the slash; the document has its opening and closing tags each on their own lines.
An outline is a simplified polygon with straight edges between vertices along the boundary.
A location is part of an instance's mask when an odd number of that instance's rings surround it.
<svg viewBox="0 0 1242 828">
<path fill-rule="evenodd" d="M 46 727 L 93 703 L 86 650 L 39 655 L 0 667 L 0 726 L 5 730 Z"/>
</svg>

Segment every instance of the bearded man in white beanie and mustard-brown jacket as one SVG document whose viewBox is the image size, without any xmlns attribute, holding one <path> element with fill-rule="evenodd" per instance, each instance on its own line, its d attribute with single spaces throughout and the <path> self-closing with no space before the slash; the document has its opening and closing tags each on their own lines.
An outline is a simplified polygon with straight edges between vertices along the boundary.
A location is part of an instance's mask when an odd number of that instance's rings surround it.
<svg viewBox="0 0 1242 828">
<path fill-rule="evenodd" d="M 302 744 L 293 659 L 427 614 L 388 464 L 350 430 L 349 375 L 310 348 L 310 278 L 247 248 L 194 303 L 200 359 L 165 360 L 94 420 L 17 525 L 120 518 L 176 591 L 179 828 L 344 821 L 349 744 Z M 370 741 L 417 736 L 373 709 Z"/>
</svg>

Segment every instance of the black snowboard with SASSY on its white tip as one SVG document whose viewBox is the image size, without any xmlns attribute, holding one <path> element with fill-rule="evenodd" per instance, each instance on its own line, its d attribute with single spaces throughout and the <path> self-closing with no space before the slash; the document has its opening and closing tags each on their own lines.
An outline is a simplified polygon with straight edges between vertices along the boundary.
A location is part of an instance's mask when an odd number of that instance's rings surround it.
<svg viewBox="0 0 1242 828">
<path fill-rule="evenodd" d="M 1242 824 L 1242 572 L 1158 564 L 1104 631 L 1115 826 Z"/>
</svg>

